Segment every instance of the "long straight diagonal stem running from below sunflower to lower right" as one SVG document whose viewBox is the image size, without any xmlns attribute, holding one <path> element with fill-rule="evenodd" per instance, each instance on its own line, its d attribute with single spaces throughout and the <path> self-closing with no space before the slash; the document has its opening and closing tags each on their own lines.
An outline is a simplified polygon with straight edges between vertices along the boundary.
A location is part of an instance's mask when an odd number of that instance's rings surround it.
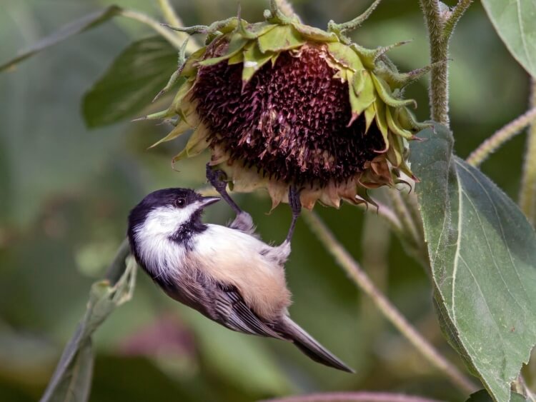
<svg viewBox="0 0 536 402">
<path fill-rule="evenodd" d="M 350 278 L 364 291 L 377 306 L 379 311 L 396 327 L 422 356 L 429 361 L 432 366 L 442 371 L 452 381 L 457 388 L 464 393 L 472 393 L 477 390 L 475 385 L 452 364 L 447 361 L 420 333 L 406 320 L 404 316 L 394 307 L 389 300 L 380 292 L 367 274 L 362 270 L 357 261 L 344 249 L 337 241 L 333 233 L 322 222 L 322 220 L 313 212 L 302 214 L 304 220 L 311 228 L 311 231 L 317 235 L 319 241 L 334 256 L 335 261 L 339 263 Z"/>
</svg>

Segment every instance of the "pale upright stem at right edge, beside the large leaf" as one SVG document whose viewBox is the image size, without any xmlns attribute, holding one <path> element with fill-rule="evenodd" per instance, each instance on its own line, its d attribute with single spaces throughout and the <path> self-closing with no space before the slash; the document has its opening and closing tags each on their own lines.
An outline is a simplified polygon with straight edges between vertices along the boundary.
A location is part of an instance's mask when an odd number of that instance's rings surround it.
<svg viewBox="0 0 536 402">
<path fill-rule="evenodd" d="M 536 224 L 536 78 L 532 78 L 530 107 L 535 113 L 529 128 L 527 151 L 521 180 L 520 207 L 534 226 Z"/>
</svg>

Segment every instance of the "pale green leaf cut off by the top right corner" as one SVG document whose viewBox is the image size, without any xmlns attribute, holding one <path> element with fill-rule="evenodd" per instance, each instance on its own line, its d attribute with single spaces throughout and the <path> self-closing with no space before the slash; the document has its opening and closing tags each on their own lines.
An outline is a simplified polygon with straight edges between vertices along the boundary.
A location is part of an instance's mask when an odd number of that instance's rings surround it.
<svg viewBox="0 0 536 402">
<path fill-rule="evenodd" d="M 482 0 L 482 5 L 512 56 L 536 76 L 536 2 Z"/>
</svg>

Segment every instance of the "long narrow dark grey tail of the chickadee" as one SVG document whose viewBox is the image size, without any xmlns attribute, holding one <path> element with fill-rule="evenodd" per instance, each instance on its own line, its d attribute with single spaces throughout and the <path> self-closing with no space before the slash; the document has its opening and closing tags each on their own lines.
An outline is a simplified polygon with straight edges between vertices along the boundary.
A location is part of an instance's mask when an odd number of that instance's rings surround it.
<svg viewBox="0 0 536 402">
<path fill-rule="evenodd" d="M 338 370 L 355 373 L 355 371 L 344 364 L 324 346 L 314 340 L 309 333 L 305 332 L 297 323 L 294 323 L 289 317 L 284 318 L 284 332 L 291 341 L 312 360 L 322 363 L 325 366 L 337 368 Z"/>
</svg>

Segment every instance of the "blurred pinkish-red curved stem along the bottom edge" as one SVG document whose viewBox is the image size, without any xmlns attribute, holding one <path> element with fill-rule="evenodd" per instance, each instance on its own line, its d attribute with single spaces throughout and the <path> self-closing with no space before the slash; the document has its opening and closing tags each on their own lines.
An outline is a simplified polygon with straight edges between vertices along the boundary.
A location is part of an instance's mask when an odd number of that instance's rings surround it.
<svg viewBox="0 0 536 402">
<path fill-rule="evenodd" d="M 261 402 L 440 402 L 437 399 L 421 398 L 401 393 L 386 392 L 329 392 L 309 393 L 309 395 L 289 396 L 287 398 L 266 399 Z"/>
</svg>

